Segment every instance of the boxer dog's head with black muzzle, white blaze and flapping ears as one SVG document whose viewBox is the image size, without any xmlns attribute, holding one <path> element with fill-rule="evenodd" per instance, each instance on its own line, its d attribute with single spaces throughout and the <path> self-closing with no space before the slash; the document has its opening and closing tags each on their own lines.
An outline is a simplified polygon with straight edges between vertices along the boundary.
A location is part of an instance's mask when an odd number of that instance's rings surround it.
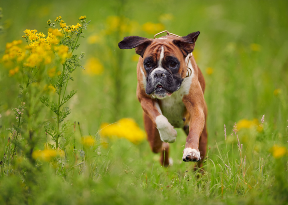
<svg viewBox="0 0 288 205">
<path fill-rule="evenodd" d="M 199 31 L 177 38 L 171 35 L 158 39 L 125 37 L 120 49 L 135 48 L 143 58 L 141 68 L 146 77 L 146 94 L 163 99 L 177 91 L 186 77 L 185 58 L 194 50 Z"/>
</svg>

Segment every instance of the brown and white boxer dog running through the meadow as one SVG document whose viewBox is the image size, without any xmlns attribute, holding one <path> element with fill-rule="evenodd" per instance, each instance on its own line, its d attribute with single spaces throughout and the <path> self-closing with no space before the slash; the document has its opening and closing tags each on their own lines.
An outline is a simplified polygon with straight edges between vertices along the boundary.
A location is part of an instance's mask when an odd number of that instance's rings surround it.
<svg viewBox="0 0 288 205">
<path fill-rule="evenodd" d="M 135 48 L 140 55 L 137 97 L 144 111 L 151 149 L 162 152 L 160 162 L 164 161 L 165 166 L 169 164 L 168 143 L 177 137 L 175 127 L 187 134 L 183 161 L 199 161 L 200 167 L 206 154 L 205 81 L 192 55 L 199 34 L 198 31 L 180 38 L 166 35 L 158 39 L 129 36 L 118 44 L 120 49 Z"/>
</svg>

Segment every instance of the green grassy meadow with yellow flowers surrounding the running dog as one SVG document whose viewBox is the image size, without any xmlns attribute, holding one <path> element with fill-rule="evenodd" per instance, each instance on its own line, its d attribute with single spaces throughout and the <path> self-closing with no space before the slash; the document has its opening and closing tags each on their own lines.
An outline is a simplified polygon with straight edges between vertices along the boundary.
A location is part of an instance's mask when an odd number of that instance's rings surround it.
<svg viewBox="0 0 288 205">
<path fill-rule="evenodd" d="M 288 204 L 287 1 L 13 0 L 0 7 L 0 204 Z M 24 30 L 47 35 L 47 20 L 62 16 L 71 25 L 84 15 L 91 22 L 73 55 L 86 53 L 85 70 L 67 72 L 73 81 L 65 96 L 77 93 L 65 104 L 71 113 L 58 123 L 67 123 L 65 132 L 55 131 L 53 140 L 45 132 L 47 122 L 57 127 L 57 115 L 40 97 L 57 103 L 53 82 L 65 58 L 52 58 L 36 72 L 17 70 L 16 61 L 2 56 L 14 40 L 22 39 L 24 49 Z M 206 81 L 204 173 L 182 161 L 182 130 L 170 145 L 168 168 L 142 140 L 138 56 L 118 42 L 162 30 L 180 36 L 200 31 L 193 54 Z M 56 56 L 61 60 L 60 50 Z M 20 111 L 15 116 L 11 108 Z M 126 120 L 113 134 L 121 124 L 115 122 L 125 118 L 140 129 Z M 105 128 L 109 137 L 99 132 L 106 123 L 114 123 Z"/>
</svg>

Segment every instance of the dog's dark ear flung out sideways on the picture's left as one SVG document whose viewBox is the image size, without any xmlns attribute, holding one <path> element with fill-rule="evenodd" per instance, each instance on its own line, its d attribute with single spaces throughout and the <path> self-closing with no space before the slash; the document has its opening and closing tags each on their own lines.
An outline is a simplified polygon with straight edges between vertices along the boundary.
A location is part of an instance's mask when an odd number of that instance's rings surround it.
<svg viewBox="0 0 288 205">
<path fill-rule="evenodd" d="M 139 36 L 128 36 L 124 37 L 123 41 L 118 43 L 120 49 L 131 49 L 135 48 L 137 54 L 141 55 L 143 58 L 144 52 L 148 45 L 150 45 L 152 41 L 150 39 L 139 37 Z"/>
</svg>

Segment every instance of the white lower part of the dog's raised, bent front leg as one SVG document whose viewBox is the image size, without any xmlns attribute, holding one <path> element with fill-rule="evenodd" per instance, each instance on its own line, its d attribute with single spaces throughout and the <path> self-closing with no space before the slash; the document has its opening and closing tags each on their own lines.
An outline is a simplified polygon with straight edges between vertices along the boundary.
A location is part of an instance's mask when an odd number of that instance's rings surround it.
<svg viewBox="0 0 288 205">
<path fill-rule="evenodd" d="M 155 122 L 163 142 L 173 143 L 176 141 L 177 131 L 164 115 L 157 116 Z"/>
</svg>

